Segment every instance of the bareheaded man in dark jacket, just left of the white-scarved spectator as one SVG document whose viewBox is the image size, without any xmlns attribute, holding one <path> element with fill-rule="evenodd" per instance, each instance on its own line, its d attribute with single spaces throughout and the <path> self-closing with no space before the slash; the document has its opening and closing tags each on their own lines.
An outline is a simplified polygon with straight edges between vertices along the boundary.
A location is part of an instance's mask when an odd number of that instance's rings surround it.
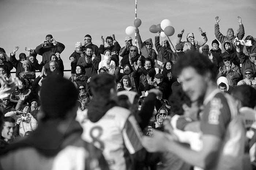
<svg viewBox="0 0 256 170">
<path fill-rule="evenodd" d="M 77 65 L 82 65 L 85 76 L 90 78 L 92 74 L 98 73 L 99 62 L 101 62 L 101 58 L 93 55 L 93 47 L 86 46 L 85 56 L 78 59 Z"/>
</svg>

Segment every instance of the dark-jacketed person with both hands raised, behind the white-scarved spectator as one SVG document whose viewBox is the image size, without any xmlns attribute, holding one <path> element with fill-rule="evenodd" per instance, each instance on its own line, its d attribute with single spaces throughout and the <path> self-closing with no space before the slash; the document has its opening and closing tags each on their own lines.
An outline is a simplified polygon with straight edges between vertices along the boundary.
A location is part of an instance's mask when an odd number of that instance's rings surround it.
<svg viewBox="0 0 256 170">
<path fill-rule="evenodd" d="M 116 40 L 115 35 L 107 36 L 106 43 L 108 44 L 108 47 L 104 47 L 104 39 L 103 36 L 101 36 L 101 45 L 99 46 L 99 53 L 104 54 L 106 50 L 109 50 L 111 52 L 111 60 L 113 60 L 116 64 L 116 67 L 118 66 L 119 62 L 119 51 L 121 49 L 121 46 Z"/>
</svg>

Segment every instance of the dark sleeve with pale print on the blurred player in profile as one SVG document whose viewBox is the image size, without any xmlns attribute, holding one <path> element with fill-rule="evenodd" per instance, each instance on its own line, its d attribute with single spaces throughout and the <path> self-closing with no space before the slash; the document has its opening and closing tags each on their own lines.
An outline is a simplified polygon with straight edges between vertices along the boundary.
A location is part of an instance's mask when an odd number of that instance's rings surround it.
<svg viewBox="0 0 256 170">
<path fill-rule="evenodd" d="M 218 93 L 207 103 L 202 116 L 201 130 L 203 134 L 222 138 L 226 132 L 231 113 L 226 98 Z"/>
</svg>

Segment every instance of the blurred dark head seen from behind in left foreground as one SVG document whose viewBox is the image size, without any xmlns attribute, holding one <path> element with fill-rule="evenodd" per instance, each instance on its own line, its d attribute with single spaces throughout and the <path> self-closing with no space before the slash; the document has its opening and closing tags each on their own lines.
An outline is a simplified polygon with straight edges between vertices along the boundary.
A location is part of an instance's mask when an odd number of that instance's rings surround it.
<svg viewBox="0 0 256 170">
<path fill-rule="evenodd" d="M 41 88 L 41 106 L 45 114 L 42 120 L 64 118 L 75 107 L 77 97 L 78 90 L 71 81 L 56 75 L 47 77 Z"/>
</svg>

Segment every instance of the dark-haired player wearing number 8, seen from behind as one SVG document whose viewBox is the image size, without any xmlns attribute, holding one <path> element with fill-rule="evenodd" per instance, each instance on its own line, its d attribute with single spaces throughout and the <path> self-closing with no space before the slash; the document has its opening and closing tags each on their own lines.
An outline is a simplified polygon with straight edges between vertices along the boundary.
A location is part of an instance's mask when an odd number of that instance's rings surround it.
<svg viewBox="0 0 256 170">
<path fill-rule="evenodd" d="M 142 150 L 142 134 L 131 111 L 117 106 L 115 77 L 98 74 L 91 79 L 90 87 L 90 106 L 77 116 L 84 129 L 82 138 L 103 150 L 110 169 L 133 169 L 131 156 Z M 141 161 L 144 157 L 133 158 Z"/>
</svg>

